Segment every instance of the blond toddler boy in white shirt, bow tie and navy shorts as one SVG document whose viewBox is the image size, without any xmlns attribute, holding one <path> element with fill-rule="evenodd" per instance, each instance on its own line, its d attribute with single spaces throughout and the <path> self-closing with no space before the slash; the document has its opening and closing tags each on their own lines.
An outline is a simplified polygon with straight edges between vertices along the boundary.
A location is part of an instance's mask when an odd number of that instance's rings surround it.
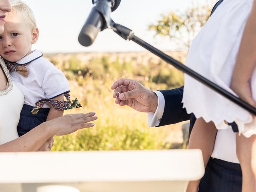
<svg viewBox="0 0 256 192">
<path fill-rule="evenodd" d="M 18 135 L 22 136 L 42 122 L 63 116 L 64 110 L 75 104 L 71 106 L 64 73 L 43 58 L 42 52 L 31 49 L 39 38 L 32 9 L 21 0 L 10 0 L 10 4 L 12 10 L 6 14 L 4 32 L 0 35 L 0 56 L 24 95 L 17 126 Z M 48 141 L 39 150 L 50 150 L 47 144 Z"/>
</svg>

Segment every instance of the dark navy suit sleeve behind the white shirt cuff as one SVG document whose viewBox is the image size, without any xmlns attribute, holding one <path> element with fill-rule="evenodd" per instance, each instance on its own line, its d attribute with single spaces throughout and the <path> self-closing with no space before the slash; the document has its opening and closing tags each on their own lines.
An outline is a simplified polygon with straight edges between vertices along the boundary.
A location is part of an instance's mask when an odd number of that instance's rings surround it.
<svg viewBox="0 0 256 192">
<path fill-rule="evenodd" d="M 159 126 L 174 124 L 190 119 L 190 115 L 187 114 L 186 109 L 183 108 L 183 104 L 181 103 L 183 86 L 181 88 L 162 90 L 160 92 L 164 95 L 165 105 L 164 114 Z"/>
</svg>

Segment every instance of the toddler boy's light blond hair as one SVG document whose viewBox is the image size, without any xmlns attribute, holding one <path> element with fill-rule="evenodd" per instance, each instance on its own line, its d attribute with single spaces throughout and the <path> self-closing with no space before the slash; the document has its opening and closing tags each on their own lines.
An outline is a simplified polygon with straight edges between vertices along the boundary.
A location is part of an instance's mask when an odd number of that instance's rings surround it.
<svg viewBox="0 0 256 192">
<path fill-rule="evenodd" d="M 24 1 L 10 0 L 12 6 L 11 12 L 6 13 L 6 16 L 21 16 L 25 22 L 32 28 L 36 28 L 36 19 L 31 8 Z"/>
</svg>

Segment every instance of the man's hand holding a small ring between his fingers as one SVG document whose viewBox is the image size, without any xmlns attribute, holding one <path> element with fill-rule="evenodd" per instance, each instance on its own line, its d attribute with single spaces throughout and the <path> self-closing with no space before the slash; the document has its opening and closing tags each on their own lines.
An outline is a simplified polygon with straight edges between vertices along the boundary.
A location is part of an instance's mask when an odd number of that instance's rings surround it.
<svg viewBox="0 0 256 192">
<path fill-rule="evenodd" d="M 120 106 L 128 105 L 140 112 L 155 112 L 158 105 L 156 94 L 148 90 L 142 84 L 132 79 L 120 79 L 111 86 L 114 90 L 113 98 L 119 92 L 119 98 L 116 98 L 116 104 Z"/>
</svg>

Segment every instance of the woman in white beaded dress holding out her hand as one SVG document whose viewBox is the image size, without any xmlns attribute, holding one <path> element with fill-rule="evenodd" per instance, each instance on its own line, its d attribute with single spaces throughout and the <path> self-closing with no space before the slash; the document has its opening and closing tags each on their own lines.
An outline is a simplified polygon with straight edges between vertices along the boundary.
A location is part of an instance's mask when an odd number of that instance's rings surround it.
<svg viewBox="0 0 256 192">
<path fill-rule="evenodd" d="M 6 12 L 10 12 L 9 0 L 0 1 L 0 34 L 4 31 Z M 48 138 L 65 135 L 82 128 L 94 126 L 95 112 L 65 115 L 44 122 L 30 132 L 18 137 L 17 125 L 24 96 L 12 82 L 4 61 L 0 58 L 0 152 L 36 151 Z"/>
</svg>

